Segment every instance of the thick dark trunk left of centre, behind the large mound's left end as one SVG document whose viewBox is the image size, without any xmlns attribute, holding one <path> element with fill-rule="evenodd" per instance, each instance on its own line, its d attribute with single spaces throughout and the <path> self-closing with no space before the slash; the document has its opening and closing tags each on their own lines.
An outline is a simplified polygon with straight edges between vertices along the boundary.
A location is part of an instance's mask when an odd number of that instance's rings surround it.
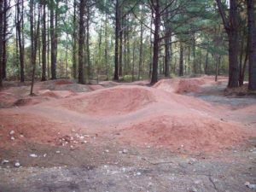
<svg viewBox="0 0 256 192">
<path fill-rule="evenodd" d="M 79 84 L 84 84 L 84 9 L 85 0 L 79 4 Z"/>
</svg>

